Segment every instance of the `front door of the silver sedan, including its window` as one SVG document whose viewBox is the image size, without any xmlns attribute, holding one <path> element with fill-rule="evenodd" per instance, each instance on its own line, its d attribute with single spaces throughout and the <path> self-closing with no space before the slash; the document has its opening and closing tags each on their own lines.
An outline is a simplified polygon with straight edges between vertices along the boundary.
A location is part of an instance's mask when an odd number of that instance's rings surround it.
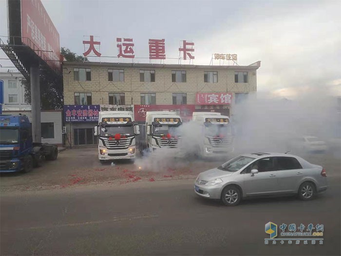
<svg viewBox="0 0 341 256">
<path fill-rule="evenodd" d="M 258 173 L 252 175 L 251 170 L 257 169 Z M 261 158 L 242 172 L 243 190 L 246 196 L 273 194 L 279 190 L 277 172 L 274 171 L 274 158 Z"/>
</svg>

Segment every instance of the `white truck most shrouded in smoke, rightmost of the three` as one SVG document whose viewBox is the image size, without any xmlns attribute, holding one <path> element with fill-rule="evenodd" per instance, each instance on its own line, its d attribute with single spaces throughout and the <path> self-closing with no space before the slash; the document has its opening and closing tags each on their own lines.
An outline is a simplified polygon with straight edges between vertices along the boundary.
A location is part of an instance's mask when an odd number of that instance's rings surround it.
<svg viewBox="0 0 341 256">
<path fill-rule="evenodd" d="M 230 118 L 216 112 L 193 112 L 192 121 L 201 128 L 196 152 L 199 157 L 226 157 L 234 151 Z"/>
</svg>

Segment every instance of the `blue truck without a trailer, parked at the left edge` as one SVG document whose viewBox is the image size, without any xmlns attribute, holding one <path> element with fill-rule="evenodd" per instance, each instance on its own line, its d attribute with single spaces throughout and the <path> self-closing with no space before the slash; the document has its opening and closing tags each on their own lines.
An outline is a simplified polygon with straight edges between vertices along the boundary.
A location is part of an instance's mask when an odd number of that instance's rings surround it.
<svg viewBox="0 0 341 256">
<path fill-rule="evenodd" d="M 0 115 L 0 173 L 30 172 L 43 160 L 56 160 L 57 145 L 34 143 L 25 115 Z"/>
</svg>

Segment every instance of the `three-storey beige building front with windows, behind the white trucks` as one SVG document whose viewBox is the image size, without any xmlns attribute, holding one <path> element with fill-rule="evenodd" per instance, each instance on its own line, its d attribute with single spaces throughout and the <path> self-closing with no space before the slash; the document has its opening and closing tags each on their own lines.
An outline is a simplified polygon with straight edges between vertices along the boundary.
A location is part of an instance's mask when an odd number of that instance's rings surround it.
<svg viewBox="0 0 341 256">
<path fill-rule="evenodd" d="M 234 104 L 257 91 L 257 69 L 260 64 L 260 61 L 248 66 L 65 61 L 64 104 L 84 108 L 128 105 L 135 112 L 135 120 L 141 123 L 143 119 L 137 114 L 142 110 L 172 109 L 179 110 L 181 115 L 181 111 L 186 109 L 189 112 L 221 112 L 230 116 Z M 76 111 L 73 113 L 76 115 Z M 65 119 L 69 140 L 73 145 L 84 142 L 96 144 L 96 138 L 92 135 L 96 123 L 87 117 L 83 119 L 86 121 Z"/>
</svg>

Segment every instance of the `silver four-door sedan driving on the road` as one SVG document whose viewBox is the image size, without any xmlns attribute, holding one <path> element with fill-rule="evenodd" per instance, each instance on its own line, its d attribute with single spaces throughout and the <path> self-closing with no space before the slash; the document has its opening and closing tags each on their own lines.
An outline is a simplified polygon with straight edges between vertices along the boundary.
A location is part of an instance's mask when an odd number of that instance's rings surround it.
<svg viewBox="0 0 341 256">
<path fill-rule="evenodd" d="M 310 200 L 327 189 L 326 176 L 322 166 L 297 156 L 252 153 L 200 173 L 194 191 L 200 197 L 221 199 L 227 206 L 253 196 L 297 194 Z"/>
</svg>

